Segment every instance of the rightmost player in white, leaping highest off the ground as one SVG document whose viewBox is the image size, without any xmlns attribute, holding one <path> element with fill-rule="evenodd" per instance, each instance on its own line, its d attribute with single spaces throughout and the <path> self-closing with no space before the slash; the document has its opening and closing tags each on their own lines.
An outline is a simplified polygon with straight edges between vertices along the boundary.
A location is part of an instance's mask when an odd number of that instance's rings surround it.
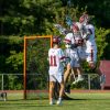
<svg viewBox="0 0 110 110">
<path fill-rule="evenodd" d="M 90 24 L 90 18 L 88 14 L 84 14 L 79 18 L 80 24 L 84 25 L 84 40 L 86 41 L 86 61 L 90 68 L 96 67 L 97 62 L 97 45 L 95 38 L 95 26 Z"/>
</svg>

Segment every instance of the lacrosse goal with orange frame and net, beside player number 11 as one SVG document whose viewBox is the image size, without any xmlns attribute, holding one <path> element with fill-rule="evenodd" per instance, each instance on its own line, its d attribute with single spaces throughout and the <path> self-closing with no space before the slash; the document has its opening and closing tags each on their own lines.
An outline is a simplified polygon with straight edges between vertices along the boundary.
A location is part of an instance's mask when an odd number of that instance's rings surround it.
<svg viewBox="0 0 110 110">
<path fill-rule="evenodd" d="M 24 36 L 24 99 L 48 97 L 48 50 L 52 35 Z"/>
</svg>

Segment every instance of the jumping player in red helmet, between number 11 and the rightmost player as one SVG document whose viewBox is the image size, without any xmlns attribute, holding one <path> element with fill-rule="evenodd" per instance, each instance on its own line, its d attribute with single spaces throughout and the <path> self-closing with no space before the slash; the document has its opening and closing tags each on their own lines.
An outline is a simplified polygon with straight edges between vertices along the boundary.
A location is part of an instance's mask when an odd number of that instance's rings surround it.
<svg viewBox="0 0 110 110">
<path fill-rule="evenodd" d="M 82 37 L 77 24 L 73 25 L 73 32 L 68 33 L 64 41 L 67 47 L 65 51 L 66 56 L 70 58 L 70 62 L 67 64 L 67 69 L 64 74 L 64 82 L 66 84 L 70 69 L 78 74 L 78 78 L 75 80 L 75 82 L 78 82 L 82 80 L 82 69 L 80 66 L 81 52 L 79 50 L 82 46 Z"/>
</svg>

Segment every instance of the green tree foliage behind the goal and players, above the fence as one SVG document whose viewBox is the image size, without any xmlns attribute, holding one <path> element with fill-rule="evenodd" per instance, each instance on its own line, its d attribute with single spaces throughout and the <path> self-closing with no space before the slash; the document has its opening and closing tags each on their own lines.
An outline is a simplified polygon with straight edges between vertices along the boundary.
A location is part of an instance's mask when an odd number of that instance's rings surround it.
<svg viewBox="0 0 110 110">
<path fill-rule="evenodd" d="M 67 28 L 66 15 L 78 21 L 86 11 L 94 18 L 98 62 L 110 59 L 110 0 L 0 0 L 0 73 L 23 73 L 24 35 L 59 35 L 54 23 Z"/>
</svg>

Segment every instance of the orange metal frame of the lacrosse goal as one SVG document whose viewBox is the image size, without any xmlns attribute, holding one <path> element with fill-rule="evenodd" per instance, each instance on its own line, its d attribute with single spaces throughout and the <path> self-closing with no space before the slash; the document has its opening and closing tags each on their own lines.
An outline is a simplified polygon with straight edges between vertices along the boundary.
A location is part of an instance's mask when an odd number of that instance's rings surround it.
<svg viewBox="0 0 110 110">
<path fill-rule="evenodd" d="M 23 98 L 26 99 L 26 41 L 28 40 L 35 40 L 35 38 L 51 38 L 51 47 L 52 47 L 52 35 L 44 35 L 44 36 L 24 36 L 24 55 L 23 55 L 23 88 L 24 88 L 24 92 L 23 92 Z"/>
</svg>

